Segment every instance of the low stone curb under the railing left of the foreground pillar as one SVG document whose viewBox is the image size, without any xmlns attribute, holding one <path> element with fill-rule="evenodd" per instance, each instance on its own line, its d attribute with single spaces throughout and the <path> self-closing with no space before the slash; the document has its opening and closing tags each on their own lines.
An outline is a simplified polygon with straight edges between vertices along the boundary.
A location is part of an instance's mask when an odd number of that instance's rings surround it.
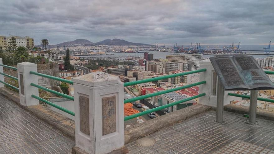
<svg viewBox="0 0 274 154">
<path fill-rule="evenodd" d="M 0 88 L 0 94 L 12 100 L 21 108 L 29 111 L 31 114 L 37 116 L 39 119 L 50 124 L 54 128 L 59 129 L 69 138 L 75 140 L 75 125 L 73 120 L 46 108 L 43 105 L 23 106 L 20 104 L 19 94 L 7 88 Z"/>
</svg>

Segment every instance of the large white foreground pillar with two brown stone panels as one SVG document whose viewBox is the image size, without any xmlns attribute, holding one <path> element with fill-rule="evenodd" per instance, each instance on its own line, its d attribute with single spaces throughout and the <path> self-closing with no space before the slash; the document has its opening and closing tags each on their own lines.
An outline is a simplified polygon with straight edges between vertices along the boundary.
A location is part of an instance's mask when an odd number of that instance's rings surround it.
<svg viewBox="0 0 274 154">
<path fill-rule="evenodd" d="M 105 154 L 124 146 L 124 86 L 119 77 L 93 72 L 73 78 L 76 147 Z"/>
</svg>

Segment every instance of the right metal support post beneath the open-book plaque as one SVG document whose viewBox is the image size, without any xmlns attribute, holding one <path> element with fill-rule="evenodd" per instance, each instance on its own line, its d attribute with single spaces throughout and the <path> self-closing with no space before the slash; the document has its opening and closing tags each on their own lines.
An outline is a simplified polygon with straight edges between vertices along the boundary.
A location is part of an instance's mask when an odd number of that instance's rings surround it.
<svg viewBox="0 0 274 154">
<path fill-rule="evenodd" d="M 255 125 L 256 124 L 256 110 L 257 110 L 257 97 L 258 91 L 251 90 L 250 91 L 250 104 L 249 104 L 249 124 Z"/>
</svg>

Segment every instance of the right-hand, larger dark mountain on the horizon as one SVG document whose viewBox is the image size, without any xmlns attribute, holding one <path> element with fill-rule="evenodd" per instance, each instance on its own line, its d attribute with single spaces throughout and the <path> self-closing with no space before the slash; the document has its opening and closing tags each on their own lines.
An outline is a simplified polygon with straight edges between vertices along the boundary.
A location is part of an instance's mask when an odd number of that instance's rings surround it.
<svg viewBox="0 0 274 154">
<path fill-rule="evenodd" d="M 148 45 L 148 46 L 153 46 L 151 44 L 143 44 L 143 43 L 132 43 L 132 42 L 128 42 L 126 40 L 120 40 L 120 39 L 107 39 L 107 40 L 103 40 L 100 42 L 95 43 L 95 45 Z"/>
</svg>

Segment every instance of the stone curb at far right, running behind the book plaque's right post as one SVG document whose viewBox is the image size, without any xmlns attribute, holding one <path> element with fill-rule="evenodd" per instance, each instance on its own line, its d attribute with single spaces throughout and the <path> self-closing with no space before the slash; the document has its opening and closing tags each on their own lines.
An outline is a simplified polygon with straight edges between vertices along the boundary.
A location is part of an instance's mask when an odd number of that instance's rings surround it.
<svg viewBox="0 0 274 154">
<path fill-rule="evenodd" d="M 228 104 L 224 106 L 224 110 L 239 114 L 249 114 L 249 107 L 242 105 Z M 258 118 L 274 121 L 274 112 L 271 111 L 257 109 L 256 116 Z"/>
</svg>

